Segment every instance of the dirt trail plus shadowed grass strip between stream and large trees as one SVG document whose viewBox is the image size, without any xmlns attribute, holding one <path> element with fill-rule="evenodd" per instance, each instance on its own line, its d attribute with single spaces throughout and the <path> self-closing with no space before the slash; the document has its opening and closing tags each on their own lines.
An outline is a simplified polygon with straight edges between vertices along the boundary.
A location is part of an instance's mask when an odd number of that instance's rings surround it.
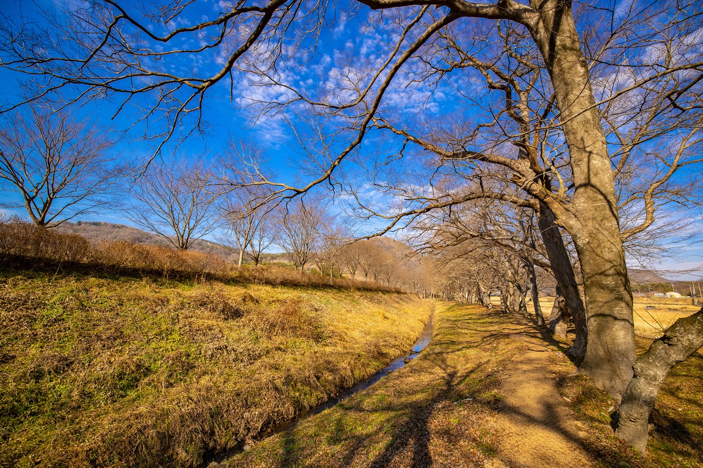
<svg viewBox="0 0 703 468">
<path fill-rule="evenodd" d="M 435 317 L 432 342 L 408 366 L 222 464 L 593 466 L 552 373 L 570 371 L 566 356 L 520 316 L 445 303 Z"/>
</svg>

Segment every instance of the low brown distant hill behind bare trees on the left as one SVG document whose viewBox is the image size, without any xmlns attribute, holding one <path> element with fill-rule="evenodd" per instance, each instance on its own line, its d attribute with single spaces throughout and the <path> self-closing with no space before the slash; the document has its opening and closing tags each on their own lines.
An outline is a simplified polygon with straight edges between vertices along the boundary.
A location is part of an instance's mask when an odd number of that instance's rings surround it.
<svg viewBox="0 0 703 468">
<path fill-rule="evenodd" d="M 127 241 L 133 243 L 148 243 L 155 246 L 172 247 L 172 245 L 158 234 L 146 232 L 136 227 L 117 225 L 112 222 L 102 221 L 77 221 L 64 222 L 56 228 L 59 232 L 79 234 L 91 242 Z M 225 260 L 234 262 L 238 260 L 238 253 L 222 246 L 219 243 L 198 239 L 190 250 L 220 255 Z M 284 254 L 267 253 L 263 255 L 264 262 L 285 261 Z"/>
</svg>

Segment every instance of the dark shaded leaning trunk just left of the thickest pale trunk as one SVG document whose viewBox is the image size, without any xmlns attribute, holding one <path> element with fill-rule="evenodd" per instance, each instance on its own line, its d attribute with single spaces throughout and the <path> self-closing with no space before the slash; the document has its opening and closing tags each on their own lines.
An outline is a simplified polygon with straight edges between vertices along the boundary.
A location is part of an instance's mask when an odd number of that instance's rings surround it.
<svg viewBox="0 0 703 468">
<path fill-rule="evenodd" d="M 555 225 L 555 216 L 552 210 L 544 203 L 540 203 L 539 212 L 537 213 L 537 225 L 542 234 L 542 241 L 547 251 L 547 258 L 554 272 L 554 277 L 557 280 L 557 299 L 561 296 L 568 308 L 568 315 L 574 320 L 574 328 L 576 329 L 576 337 L 574 345 L 569 349 L 569 354 L 576 359 L 583 359 L 586 355 L 586 344 L 588 342 L 588 326 L 586 325 L 586 307 L 583 306 L 581 293 L 579 293 L 579 285 L 576 282 L 576 274 L 574 274 L 574 266 L 572 265 L 569 253 L 564 244 L 564 238 L 559 227 Z M 557 302 L 555 300 L 555 307 Z M 549 328 L 552 333 L 566 337 L 566 326 L 559 325 L 557 317 L 562 316 L 562 311 L 557 309 L 558 316 L 555 316 L 555 308 L 552 309 L 552 315 L 549 317 Z M 565 320 L 567 317 L 565 317 Z M 568 325 L 568 321 L 566 323 Z M 559 333 L 555 330 L 559 328 Z M 562 330 L 563 328 L 563 330 Z M 563 331 L 563 333 L 562 333 Z"/>
</svg>

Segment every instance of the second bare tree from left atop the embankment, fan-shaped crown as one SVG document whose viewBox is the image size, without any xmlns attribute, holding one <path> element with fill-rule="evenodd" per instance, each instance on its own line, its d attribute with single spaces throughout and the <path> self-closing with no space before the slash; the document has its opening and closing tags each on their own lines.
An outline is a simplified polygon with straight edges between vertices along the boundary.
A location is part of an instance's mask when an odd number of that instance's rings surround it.
<svg viewBox="0 0 703 468">
<path fill-rule="evenodd" d="M 186 250 L 217 226 L 213 180 L 202 163 L 151 163 L 131 191 L 129 219 Z"/>
</svg>

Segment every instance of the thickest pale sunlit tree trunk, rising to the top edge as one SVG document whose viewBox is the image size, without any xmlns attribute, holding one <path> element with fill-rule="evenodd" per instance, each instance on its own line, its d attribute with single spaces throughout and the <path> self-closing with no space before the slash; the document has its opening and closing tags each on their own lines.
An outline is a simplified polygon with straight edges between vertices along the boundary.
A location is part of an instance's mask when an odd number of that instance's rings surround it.
<svg viewBox="0 0 703 468">
<path fill-rule="evenodd" d="M 531 0 L 530 6 L 538 16 L 525 24 L 554 85 L 574 178 L 572 202 L 553 208 L 574 239 L 583 274 L 588 345 L 579 370 L 619 398 L 632 377 L 635 335 L 610 155 L 571 2 Z"/>
</svg>

